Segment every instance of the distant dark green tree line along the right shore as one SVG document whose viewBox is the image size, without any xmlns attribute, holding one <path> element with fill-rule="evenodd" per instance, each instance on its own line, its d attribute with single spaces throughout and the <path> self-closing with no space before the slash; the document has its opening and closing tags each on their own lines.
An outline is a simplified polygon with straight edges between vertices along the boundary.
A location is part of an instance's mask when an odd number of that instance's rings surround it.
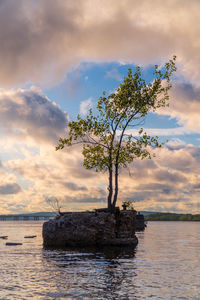
<svg viewBox="0 0 200 300">
<path fill-rule="evenodd" d="M 200 221 L 200 214 L 154 213 L 146 215 L 145 221 Z"/>
</svg>

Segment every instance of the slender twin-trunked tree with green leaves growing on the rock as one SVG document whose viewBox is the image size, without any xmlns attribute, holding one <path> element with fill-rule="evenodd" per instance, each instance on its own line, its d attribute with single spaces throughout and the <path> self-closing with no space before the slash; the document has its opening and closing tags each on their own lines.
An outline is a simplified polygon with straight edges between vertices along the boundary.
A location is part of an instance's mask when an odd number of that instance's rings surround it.
<svg viewBox="0 0 200 300">
<path fill-rule="evenodd" d="M 118 176 L 122 167 L 127 167 L 135 158 L 151 158 L 150 147 L 161 147 L 158 137 L 151 137 L 138 130 L 138 136 L 131 134 L 138 128 L 148 112 L 154 112 L 168 105 L 171 76 L 176 70 L 176 57 L 162 68 L 155 65 L 150 83 L 141 76 L 141 69 L 129 69 L 124 82 L 116 92 L 99 98 L 96 112 L 92 109 L 85 118 L 68 124 L 68 136 L 60 138 L 56 150 L 65 146 L 82 144 L 83 165 L 96 172 L 108 172 L 108 209 L 113 210 L 118 197 Z"/>
</svg>

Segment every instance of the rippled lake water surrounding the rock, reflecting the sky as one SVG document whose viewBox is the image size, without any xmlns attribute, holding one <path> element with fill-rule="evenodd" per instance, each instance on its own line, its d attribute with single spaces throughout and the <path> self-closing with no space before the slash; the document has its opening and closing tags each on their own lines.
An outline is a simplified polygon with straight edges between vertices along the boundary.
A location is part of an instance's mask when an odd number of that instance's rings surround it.
<svg viewBox="0 0 200 300">
<path fill-rule="evenodd" d="M 0 299 L 200 299 L 198 222 L 149 222 L 135 251 L 45 250 L 42 223 L 0 222 L 23 243 L 0 239 Z"/>
</svg>

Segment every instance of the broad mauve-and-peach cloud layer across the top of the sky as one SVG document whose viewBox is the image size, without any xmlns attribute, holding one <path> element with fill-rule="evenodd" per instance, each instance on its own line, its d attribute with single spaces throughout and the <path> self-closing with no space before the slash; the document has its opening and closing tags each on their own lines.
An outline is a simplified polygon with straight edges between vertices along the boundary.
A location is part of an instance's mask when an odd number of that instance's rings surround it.
<svg viewBox="0 0 200 300">
<path fill-rule="evenodd" d="M 0 82 L 55 84 L 81 61 L 148 65 L 173 54 L 198 81 L 199 11 L 196 0 L 1 1 Z"/>
</svg>

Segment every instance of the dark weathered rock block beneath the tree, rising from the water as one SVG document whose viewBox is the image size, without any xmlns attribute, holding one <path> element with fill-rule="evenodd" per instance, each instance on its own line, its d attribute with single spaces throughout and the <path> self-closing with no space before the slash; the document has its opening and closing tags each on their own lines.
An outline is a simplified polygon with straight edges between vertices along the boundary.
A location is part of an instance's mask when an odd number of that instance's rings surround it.
<svg viewBox="0 0 200 300">
<path fill-rule="evenodd" d="M 135 211 L 65 213 L 43 224 L 45 247 L 137 245 Z"/>
</svg>

